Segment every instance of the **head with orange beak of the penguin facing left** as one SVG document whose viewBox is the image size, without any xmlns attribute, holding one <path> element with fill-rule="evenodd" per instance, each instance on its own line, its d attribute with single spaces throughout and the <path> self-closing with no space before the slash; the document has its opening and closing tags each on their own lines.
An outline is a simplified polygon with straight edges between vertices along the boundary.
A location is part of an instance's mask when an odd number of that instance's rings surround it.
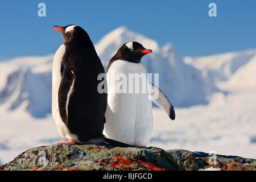
<svg viewBox="0 0 256 182">
<path fill-rule="evenodd" d="M 87 32 L 84 29 L 82 29 L 80 26 L 76 26 L 75 24 L 70 24 L 64 27 L 53 26 L 53 28 L 59 31 L 60 34 L 63 36 L 64 43 L 74 42 L 74 41 L 86 43 L 88 42 L 86 40 L 90 40 Z"/>
</svg>

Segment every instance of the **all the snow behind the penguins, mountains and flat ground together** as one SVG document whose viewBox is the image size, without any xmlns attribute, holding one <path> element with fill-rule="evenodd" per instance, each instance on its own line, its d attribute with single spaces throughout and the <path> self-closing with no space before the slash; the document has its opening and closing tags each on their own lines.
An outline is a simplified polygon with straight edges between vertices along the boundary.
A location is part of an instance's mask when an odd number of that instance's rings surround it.
<svg viewBox="0 0 256 182">
<path fill-rule="evenodd" d="M 181 58 L 171 44 L 161 48 L 155 40 L 119 27 L 96 44 L 105 68 L 130 41 L 152 49 L 143 64 L 148 73 L 159 73 L 159 88 L 176 111 L 171 121 L 154 107 L 148 146 L 256 159 L 256 49 Z M 28 148 L 64 140 L 51 115 L 52 59 L 0 61 L 0 165 Z"/>
</svg>

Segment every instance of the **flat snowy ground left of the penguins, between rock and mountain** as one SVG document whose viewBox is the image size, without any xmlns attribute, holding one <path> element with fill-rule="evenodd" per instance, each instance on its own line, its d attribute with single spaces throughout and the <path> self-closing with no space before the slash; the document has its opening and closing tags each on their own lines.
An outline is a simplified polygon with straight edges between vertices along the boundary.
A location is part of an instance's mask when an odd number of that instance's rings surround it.
<svg viewBox="0 0 256 182">
<path fill-rule="evenodd" d="M 20 106 L 15 111 L 4 111 L 1 107 L 0 161 L 2 164 L 10 162 L 29 148 L 61 141 L 51 115 L 34 118 L 24 113 L 24 107 L 26 105 Z"/>
</svg>

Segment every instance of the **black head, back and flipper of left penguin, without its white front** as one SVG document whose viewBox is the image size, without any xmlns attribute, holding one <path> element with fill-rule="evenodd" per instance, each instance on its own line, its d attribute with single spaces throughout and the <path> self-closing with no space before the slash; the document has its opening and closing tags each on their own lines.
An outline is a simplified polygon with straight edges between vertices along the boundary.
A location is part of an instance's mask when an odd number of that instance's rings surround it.
<svg viewBox="0 0 256 182">
<path fill-rule="evenodd" d="M 81 27 L 55 26 L 55 29 L 63 35 L 65 45 L 58 92 L 60 117 L 81 143 L 104 137 L 107 94 L 97 90 L 101 82 L 97 77 L 105 72 L 101 60 Z"/>
</svg>

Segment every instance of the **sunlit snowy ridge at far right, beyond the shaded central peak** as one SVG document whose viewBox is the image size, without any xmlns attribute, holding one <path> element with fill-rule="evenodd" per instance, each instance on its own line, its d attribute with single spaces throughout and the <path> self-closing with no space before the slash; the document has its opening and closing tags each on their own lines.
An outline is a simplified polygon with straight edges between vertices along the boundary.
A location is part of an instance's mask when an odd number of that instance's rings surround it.
<svg viewBox="0 0 256 182">
<path fill-rule="evenodd" d="M 219 88 L 256 86 L 256 49 L 205 57 L 184 57 L 184 61 L 199 69 L 204 79 L 213 79 Z"/>
</svg>

